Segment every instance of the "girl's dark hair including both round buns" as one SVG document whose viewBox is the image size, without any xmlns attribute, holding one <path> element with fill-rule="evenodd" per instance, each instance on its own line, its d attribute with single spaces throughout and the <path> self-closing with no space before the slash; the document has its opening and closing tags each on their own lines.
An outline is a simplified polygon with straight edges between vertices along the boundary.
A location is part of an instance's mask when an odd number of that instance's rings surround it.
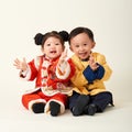
<svg viewBox="0 0 132 132">
<path fill-rule="evenodd" d="M 45 34 L 42 34 L 42 33 L 37 33 L 35 36 L 34 36 L 34 41 L 35 41 L 35 44 L 36 45 L 44 45 L 45 41 L 51 37 L 51 36 L 54 36 L 56 38 L 59 38 L 61 40 L 61 43 L 64 44 L 64 42 L 68 41 L 68 37 L 69 37 L 69 34 L 68 32 L 66 31 L 61 31 L 61 32 L 57 32 L 57 31 L 52 31 L 52 32 L 47 32 Z"/>
</svg>

